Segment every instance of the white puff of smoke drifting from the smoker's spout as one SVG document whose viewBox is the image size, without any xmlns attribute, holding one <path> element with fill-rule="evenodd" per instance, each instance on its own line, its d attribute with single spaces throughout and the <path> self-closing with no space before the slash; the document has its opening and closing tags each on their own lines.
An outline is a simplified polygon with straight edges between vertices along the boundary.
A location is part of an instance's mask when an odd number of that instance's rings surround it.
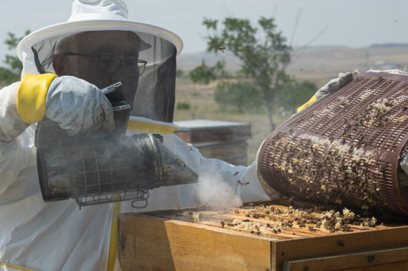
<svg viewBox="0 0 408 271">
<path fill-rule="evenodd" d="M 198 178 L 195 194 L 200 205 L 216 205 L 221 209 L 242 205 L 235 190 L 217 172 L 203 172 Z"/>
</svg>

